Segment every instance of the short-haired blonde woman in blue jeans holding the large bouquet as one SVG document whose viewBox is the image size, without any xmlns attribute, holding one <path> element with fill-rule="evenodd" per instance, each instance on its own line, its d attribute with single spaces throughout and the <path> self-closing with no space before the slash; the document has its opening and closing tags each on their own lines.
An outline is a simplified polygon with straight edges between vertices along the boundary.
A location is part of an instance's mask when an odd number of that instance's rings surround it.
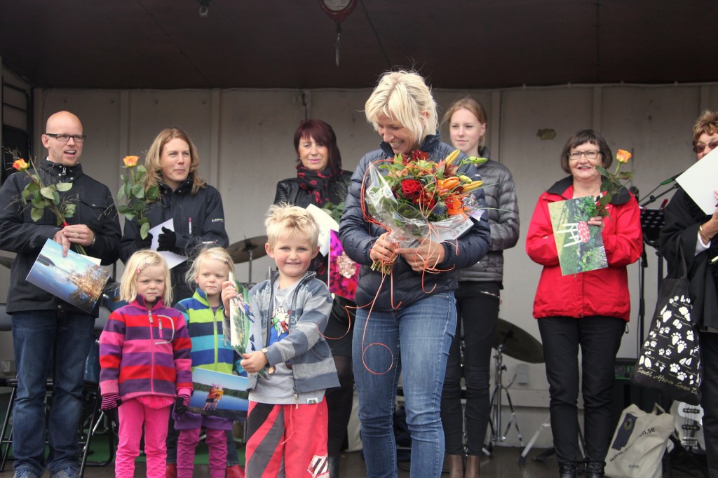
<svg viewBox="0 0 718 478">
<path fill-rule="evenodd" d="M 356 295 L 354 378 L 368 477 L 396 477 L 392 416 L 402 375 L 406 423 L 411 433 L 411 476 L 438 478 L 444 461 L 440 409 L 447 356 L 456 330 L 458 270 L 489 249 L 485 215 L 460 238 L 416 248 L 399 248 L 386 228 L 364 212 L 365 173 L 370 164 L 395 154 L 423 151 L 438 162 L 452 153 L 437 133 L 437 106 L 416 72 L 386 72 L 365 104 L 366 118 L 381 136 L 355 170 L 345 202 L 340 237 L 345 252 L 362 264 Z M 459 160 L 465 158 L 460 154 Z M 381 171 L 381 170 L 380 170 Z M 459 173 L 479 179 L 472 164 Z M 483 204 L 483 192 L 474 194 Z M 395 259 L 391 273 L 373 271 L 374 261 Z"/>
</svg>

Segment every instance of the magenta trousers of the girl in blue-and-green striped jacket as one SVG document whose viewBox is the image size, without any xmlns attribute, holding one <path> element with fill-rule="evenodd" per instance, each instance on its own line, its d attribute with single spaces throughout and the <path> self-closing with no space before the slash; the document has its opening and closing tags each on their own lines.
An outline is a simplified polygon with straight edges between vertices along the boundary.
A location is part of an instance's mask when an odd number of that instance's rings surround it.
<svg viewBox="0 0 718 478">
<path fill-rule="evenodd" d="M 195 449 L 200 443 L 202 427 L 180 430 L 177 440 L 177 478 L 192 478 L 195 469 Z M 210 478 L 225 478 L 227 472 L 227 435 L 224 430 L 205 428 L 210 451 Z"/>
</svg>

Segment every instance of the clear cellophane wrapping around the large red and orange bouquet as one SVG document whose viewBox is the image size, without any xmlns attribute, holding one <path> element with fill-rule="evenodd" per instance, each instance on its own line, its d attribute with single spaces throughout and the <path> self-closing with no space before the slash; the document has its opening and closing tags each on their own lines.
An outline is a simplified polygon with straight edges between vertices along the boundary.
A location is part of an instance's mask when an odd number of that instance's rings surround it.
<svg viewBox="0 0 718 478">
<path fill-rule="evenodd" d="M 483 213 L 476 197 L 469 194 L 463 199 L 465 214 L 429 220 L 418 207 L 397 199 L 374 164 L 368 167 L 364 199 L 370 215 L 391 230 L 388 239 L 401 248 L 418 247 L 426 239 L 436 243 L 454 242 L 472 228 L 470 217 L 479 220 Z"/>
</svg>

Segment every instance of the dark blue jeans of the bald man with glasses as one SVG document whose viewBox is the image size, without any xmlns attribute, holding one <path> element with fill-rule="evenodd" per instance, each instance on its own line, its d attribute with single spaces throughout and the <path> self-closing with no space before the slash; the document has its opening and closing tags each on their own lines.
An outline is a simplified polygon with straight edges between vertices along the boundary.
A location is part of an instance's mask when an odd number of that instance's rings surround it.
<svg viewBox="0 0 718 478">
<path fill-rule="evenodd" d="M 54 362 L 52 407 L 47 421 L 51 473 L 79 468 L 85 359 L 95 319 L 65 311 L 15 312 L 12 342 L 17 364 L 12 451 L 15 471 L 45 472 L 45 384 Z"/>
</svg>

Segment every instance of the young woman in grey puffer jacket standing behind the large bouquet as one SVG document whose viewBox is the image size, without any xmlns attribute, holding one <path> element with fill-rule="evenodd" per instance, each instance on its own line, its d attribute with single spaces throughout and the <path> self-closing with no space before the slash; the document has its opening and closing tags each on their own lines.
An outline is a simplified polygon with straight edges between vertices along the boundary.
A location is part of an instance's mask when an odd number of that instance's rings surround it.
<svg viewBox="0 0 718 478">
<path fill-rule="evenodd" d="M 449 125 L 455 148 L 467 156 L 489 157 L 488 147 L 484 146 L 487 114 L 481 103 L 473 98 L 455 101 L 444 114 L 444 122 Z M 477 168 L 487 184 L 483 190 L 488 206 L 485 214 L 491 228 L 491 250 L 481 261 L 459 271 L 458 320 L 442 392 L 449 478 L 479 476 L 479 457 L 490 414 L 491 347 L 503 289 L 503 250 L 513 248 L 518 242 L 518 203 L 511 172 L 491 159 Z M 466 414 L 461 404 L 462 375 L 466 383 Z"/>
</svg>

